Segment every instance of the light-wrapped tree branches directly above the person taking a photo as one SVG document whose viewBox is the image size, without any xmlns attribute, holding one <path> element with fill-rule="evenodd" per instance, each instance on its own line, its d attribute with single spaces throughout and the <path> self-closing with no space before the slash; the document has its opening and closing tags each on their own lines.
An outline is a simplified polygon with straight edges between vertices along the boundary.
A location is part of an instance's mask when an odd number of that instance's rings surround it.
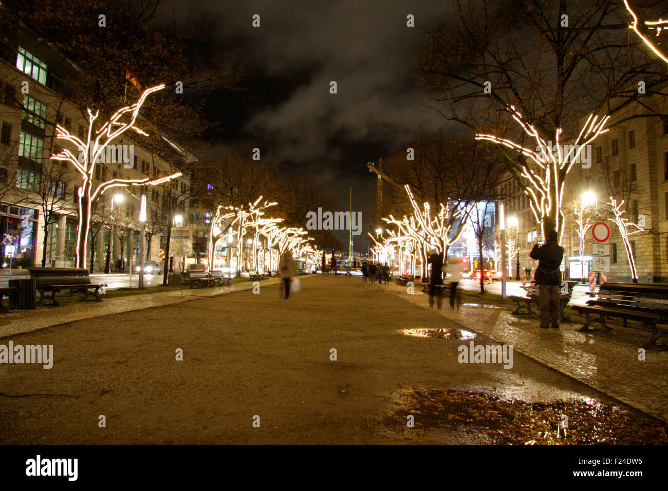
<svg viewBox="0 0 668 491">
<path fill-rule="evenodd" d="M 605 116 L 599 120 L 599 116 L 590 115 L 585 125 L 582 126 L 580 134 L 571 144 L 562 144 L 562 130 L 559 128 L 554 135 L 556 144 L 550 148 L 548 142 L 538 134 L 536 128 L 524 122 L 522 114 L 517 112 L 514 106 L 510 106 L 508 111 L 522 127 L 524 133 L 536 142 L 538 150 L 526 148 L 505 138 L 488 134 L 476 134 L 476 140 L 488 140 L 512 150 L 518 150 L 526 157 L 524 164 L 516 163 L 509 156 L 508 162 L 512 165 L 513 173 L 519 176 L 518 181 L 524 182 L 524 192 L 528 196 L 534 218 L 540 224 L 543 237 L 547 237 L 547 232 L 554 228 L 558 234 L 558 240 L 561 242 L 561 236 L 564 232 L 564 214 L 561 206 L 566 175 L 570 172 L 573 164 L 580 160 L 580 154 L 587 145 L 591 144 L 599 135 L 608 131 L 607 128 L 604 129 L 604 126 L 610 116 Z M 529 164 L 529 161 L 534 164 Z"/>
</svg>

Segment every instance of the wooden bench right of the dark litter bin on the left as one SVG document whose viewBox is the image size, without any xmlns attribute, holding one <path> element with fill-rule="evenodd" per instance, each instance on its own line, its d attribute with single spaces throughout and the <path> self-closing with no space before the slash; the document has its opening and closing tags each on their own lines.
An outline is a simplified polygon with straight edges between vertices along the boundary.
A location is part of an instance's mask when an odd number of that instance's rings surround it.
<svg viewBox="0 0 668 491">
<path fill-rule="evenodd" d="M 29 267 L 27 270 L 30 272 L 30 276 L 37 280 L 37 291 L 39 291 L 37 305 L 44 304 L 44 293 L 50 291 L 50 305 L 59 306 L 55 294 L 63 290 L 69 290 L 69 295 L 83 293 L 83 298 L 79 300 L 81 302 L 88 300 L 90 296 L 94 297 L 92 300 L 102 302 L 98 290 L 104 287 L 104 283 L 91 283 L 88 269 Z"/>
</svg>

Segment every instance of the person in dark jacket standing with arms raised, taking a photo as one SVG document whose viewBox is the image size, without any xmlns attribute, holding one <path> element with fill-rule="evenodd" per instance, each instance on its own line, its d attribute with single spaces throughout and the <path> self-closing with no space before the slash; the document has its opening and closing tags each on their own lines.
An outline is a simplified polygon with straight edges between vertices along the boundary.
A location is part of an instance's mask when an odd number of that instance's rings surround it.
<svg viewBox="0 0 668 491">
<path fill-rule="evenodd" d="M 556 230 L 547 232 L 547 242 L 535 244 L 531 250 L 531 259 L 538 260 L 536 285 L 538 285 L 538 303 L 540 305 L 540 327 L 548 329 L 559 327 L 561 309 L 559 306 L 559 287 L 561 285 L 561 261 L 564 248 L 556 241 Z"/>
</svg>

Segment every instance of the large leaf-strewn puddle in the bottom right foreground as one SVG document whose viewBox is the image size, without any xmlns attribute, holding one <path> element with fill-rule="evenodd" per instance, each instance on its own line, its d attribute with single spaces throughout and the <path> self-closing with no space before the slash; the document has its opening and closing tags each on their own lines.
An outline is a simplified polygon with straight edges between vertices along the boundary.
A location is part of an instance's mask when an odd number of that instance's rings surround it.
<svg viewBox="0 0 668 491">
<path fill-rule="evenodd" d="M 415 390 L 387 422 L 400 428 L 409 414 L 416 430 L 474 432 L 478 440 L 501 445 L 668 444 L 663 422 L 593 399 L 528 402 L 484 392 Z"/>
</svg>

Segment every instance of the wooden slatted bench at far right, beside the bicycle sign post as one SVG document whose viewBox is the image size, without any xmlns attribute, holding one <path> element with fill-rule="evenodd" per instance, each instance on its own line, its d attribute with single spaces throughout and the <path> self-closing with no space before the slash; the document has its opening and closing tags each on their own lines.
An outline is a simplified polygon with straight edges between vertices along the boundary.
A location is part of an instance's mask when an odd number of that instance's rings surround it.
<svg viewBox="0 0 668 491">
<path fill-rule="evenodd" d="M 587 305 L 573 305 L 574 311 L 585 314 L 585 325 L 580 331 L 589 331 L 592 323 L 612 330 L 608 319 L 623 321 L 624 327 L 649 329 L 652 337 L 647 345 L 655 345 L 660 337 L 668 337 L 668 331 L 659 325 L 668 324 L 668 284 L 665 283 L 603 283 L 599 296 L 588 300 Z M 641 327 L 627 321 L 637 321 Z"/>
</svg>

